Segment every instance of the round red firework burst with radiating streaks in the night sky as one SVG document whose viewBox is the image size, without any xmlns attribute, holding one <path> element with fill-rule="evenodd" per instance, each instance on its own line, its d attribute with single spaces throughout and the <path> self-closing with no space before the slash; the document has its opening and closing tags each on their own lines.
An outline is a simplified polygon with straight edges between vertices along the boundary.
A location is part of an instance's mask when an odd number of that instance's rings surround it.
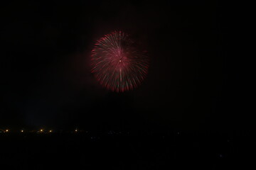
<svg viewBox="0 0 256 170">
<path fill-rule="evenodd" d="M 149 60 L 129 35 L 114 31 L 97 40 L 92 50 L 92 73 L 111 91 L 136 88 L 146 77 Z"/>
</svg>

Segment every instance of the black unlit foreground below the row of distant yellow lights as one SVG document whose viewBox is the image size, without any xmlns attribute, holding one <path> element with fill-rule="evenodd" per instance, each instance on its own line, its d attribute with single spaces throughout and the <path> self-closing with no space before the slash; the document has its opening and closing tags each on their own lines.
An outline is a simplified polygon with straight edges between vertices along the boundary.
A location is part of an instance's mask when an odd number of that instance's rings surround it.
<svg viewBox="0 0 256 170">
<path fill-rule="evenodd" d="M 0 169 L 254 169 L 254 143 L 249 132 L 1 133 Z"/>
</svg>

